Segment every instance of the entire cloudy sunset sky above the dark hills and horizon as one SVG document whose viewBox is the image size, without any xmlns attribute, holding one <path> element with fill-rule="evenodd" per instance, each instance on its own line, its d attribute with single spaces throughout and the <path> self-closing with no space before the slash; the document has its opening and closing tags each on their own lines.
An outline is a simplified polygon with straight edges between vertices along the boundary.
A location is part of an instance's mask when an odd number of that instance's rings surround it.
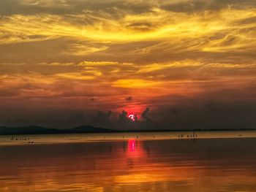
<svg viewBox="0 0 256 192">
<path fill-rule="evenodd" d="M 255 0 L 0 0 L 0 125 L 255 128 L 255 53 Z"/>
</svg>

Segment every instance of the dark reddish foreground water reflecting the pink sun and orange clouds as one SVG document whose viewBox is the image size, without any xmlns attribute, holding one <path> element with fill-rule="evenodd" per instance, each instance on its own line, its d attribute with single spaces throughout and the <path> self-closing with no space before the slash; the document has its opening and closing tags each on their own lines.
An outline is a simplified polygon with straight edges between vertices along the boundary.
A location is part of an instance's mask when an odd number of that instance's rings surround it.
<svg viewBox="0 0 256 192">
<path fill-rule="evenodd" d="M 0 191 L 256 191 L 256 139 L 0 145 Z"/>
</svg>

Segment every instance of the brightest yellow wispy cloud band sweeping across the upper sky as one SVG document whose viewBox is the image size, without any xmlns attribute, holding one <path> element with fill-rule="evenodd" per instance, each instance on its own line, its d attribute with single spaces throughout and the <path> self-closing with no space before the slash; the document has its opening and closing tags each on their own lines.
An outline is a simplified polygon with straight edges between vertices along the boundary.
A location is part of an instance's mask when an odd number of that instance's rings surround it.
<svg viewBox="0 0 256 192">
<path fill-rule="evenodd" d="M 197 12 L 188 15 L 184 12 L 170 12 L 153 8 L 151 12 L 140 15 L 128 15 L 123 18 L 91 19 L 93 15 L 71 15 L 72 19 L 64 15 L 12 15 L 1 18 L 1 44 L 13 42 L 42 41 L 57 37 L 72 37 L 91 39 L 97 42 L 136 42 L 157 39 L 184 39 L 208 37 L 220 31 L 228 30 L 241 42 L 241 46 L 252 43 L 255 36 L 244 31 L 245 28 L 255 27 L 255 23 L 236 24 L 239 20 L 256 16 L 256 9 L 222 9 L 219 12 Z M 92 25 L 83 25 L 82 20 L 91 19 Z M 72 20 L 81 22 L 72 23 Z M 144 24 L 143 24 L 144 23 Z M 236 25 L 234 25 L 236 24 Z M 135 30 L 126 26 L 148 26 L 148 30 Z M 154 26 L 150 28 L 150 26 Z M 219 50 L 218 45 L 224 39 L 211 40 L 203 50 Z M 83 50 L 82 45 L 75 45 Z M 227 48 L 238 45 L 229 45 Z M 234 47 L 235 46 L 235 47 Z M 225 47 L 225 46 L 223 46 Z M 222 47 L 222 48 L 223 48 Z M 89 52 L 104 50 L 106 47 L 91 47 Z M 86 49 L 84 49 L 86 50 Z M 79 54 L 79 53 L 78 53 Z"/>
</svg>

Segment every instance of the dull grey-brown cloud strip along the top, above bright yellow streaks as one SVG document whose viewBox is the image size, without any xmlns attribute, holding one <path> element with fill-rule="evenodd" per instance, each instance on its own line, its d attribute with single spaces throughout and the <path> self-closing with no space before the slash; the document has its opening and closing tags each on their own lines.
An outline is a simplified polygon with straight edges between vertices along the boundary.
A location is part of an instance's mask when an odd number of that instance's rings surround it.
<svg viewBox="0 0 256 192">
<path fill-rule="evenodd" d="M 153 7 L 160 7 L 172 12 L 201 12 L 205 10 L 219 10 L 227 7 L 242 9 L 256 7 L 254 0 L 188 0 L 188 1 L 47 1 L 47 0 L 1 0 L 0 15 L 33 15 L 33 14 L 80 14 L 93 11 L 105 12 L 113 18 L 124 17 L 129 14 L 152 12 Z M 118 11 L 117 11 L 118 10 Z"/>
</svg>

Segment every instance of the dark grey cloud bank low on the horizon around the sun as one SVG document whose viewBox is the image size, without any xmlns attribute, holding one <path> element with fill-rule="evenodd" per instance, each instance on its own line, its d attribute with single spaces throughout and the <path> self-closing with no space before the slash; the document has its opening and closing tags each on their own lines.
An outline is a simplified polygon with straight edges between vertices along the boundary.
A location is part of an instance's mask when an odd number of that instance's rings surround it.
<svg viewBox="0 0 256 192">
<path fill-rule="evenodd" d="M 12 101 L 13 103 L 13 101 Z M 35 103 L 36 104 L 36 103 Z M 101 126 L 116 129 L 225 129 L 225 128 L 255 128 L 256 105 L 249 101 L 206 101 L 202 99 L 184 99 L 181 104 L 165 104 L 151 110 L 154 122 L 147 119 L 149 109 L 142 112 L 141 120 L 133 122 L 127 118 L 123 110 L 118 119 L 111 118 L 112 112 L 93 112 L 83 110 L 48 109 L 35 110 L 29 107 L 2 107 L 1 125 L 6 126 L 47 126 L 71 128 L 82 125 Z M 96 114 L 96 115 L 91 115 Z"/>
</svg>

